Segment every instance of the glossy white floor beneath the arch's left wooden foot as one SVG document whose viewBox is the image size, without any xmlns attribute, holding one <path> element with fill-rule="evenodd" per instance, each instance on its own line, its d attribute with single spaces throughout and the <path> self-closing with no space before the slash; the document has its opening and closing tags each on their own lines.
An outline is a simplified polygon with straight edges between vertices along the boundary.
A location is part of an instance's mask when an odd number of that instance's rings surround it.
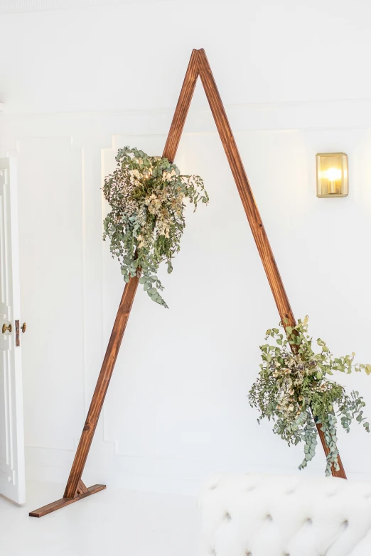
<svg viewBox="0 0 371 556">
<path fill-rule="evenodd" d="M 61 498 L 63 485 L 28 484 L 25 506 L 0 496 L 1 556 L 196 556 L 195 498 L 107 489 L 50 513 L 28 512 Z"/>
</svg>

